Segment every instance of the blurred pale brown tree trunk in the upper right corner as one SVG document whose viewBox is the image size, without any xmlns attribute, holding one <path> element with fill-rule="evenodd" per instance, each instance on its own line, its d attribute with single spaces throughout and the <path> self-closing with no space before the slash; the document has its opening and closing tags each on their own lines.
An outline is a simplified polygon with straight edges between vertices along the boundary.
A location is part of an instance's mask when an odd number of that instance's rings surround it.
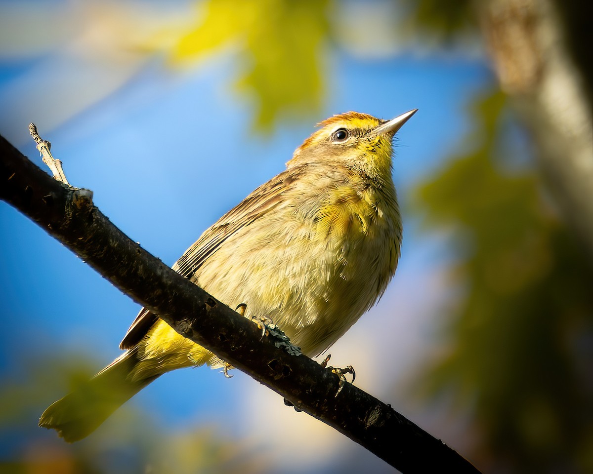
<svg viewBox="0 0 593 474">
<path fill-rule="evenodd" d="M 593 41 L 585 23 L 588 15 L 574 0 L 474 4 L 500 87 L 531 133 L 560 212 L 593 258 Z"/>
</svg>

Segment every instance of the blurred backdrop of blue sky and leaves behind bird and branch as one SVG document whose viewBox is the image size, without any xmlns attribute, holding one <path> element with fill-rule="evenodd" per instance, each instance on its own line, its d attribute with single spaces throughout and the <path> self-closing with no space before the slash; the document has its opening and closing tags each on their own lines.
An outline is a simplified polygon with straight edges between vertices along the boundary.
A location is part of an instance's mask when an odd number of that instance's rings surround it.
<svg viewBox="0 0 593 474">
<path fill-rule="evenodd" d="M 593 42 L 572 0 L 4 0 L 0 133 L 43 166 L 36 123 L 69 181 L 173 264 L 318 121 L 419 108 L 396 138 L 396 277 L 332 363 L 484 472 L 593 472 L 591 241 L 541 163 L 537 94 L 501 73 L 484 18 L 505 3 L 560 32 L 546 50 L 568 79 L 550 100 L 586 145 Z M 39 415 L 119 355 L 138 305 L 5 203 L 0 283 L 2 473 L 393 472 L 206 368 L 165 374 L 65 444 Z"/>
</svg>

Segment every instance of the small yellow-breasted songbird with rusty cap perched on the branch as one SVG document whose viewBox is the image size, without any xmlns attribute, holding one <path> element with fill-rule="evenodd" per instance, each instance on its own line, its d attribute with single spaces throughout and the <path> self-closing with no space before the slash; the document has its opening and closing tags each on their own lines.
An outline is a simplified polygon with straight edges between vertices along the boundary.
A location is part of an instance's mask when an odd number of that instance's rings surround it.
<svg viewBox="0 0 593 474">
<path fill-rule="evenodd" d="M 272 319 L 302 353 L 325 351 L 385 291 L 400 256 L 392 140 L 415 110 L 348 112 L 319 124 L 286 164 L 222 216 L 173 270 L 245 316 Z M 94 431 L 161 374 L 225 362 L 143 308 L 120 355 L 53 403 L 39 425 L 66 441 Z"/>
</svg>

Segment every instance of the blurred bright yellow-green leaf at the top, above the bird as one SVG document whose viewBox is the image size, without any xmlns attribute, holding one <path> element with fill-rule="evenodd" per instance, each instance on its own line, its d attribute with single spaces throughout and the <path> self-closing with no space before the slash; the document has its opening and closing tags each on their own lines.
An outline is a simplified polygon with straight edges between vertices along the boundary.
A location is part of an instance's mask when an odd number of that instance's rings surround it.
<svg viewBox="0 0 593 474">
<path fill-rule="evenodd" d="M 289 114 L 308 117 L 320 109 L 326 1 L 219 0 L 204 8 L 203 20 L 178 41 L 174 61 L 233 46 L 241 65 L 237 87 L 259 103 L 262 130 Z"/>
</svg>

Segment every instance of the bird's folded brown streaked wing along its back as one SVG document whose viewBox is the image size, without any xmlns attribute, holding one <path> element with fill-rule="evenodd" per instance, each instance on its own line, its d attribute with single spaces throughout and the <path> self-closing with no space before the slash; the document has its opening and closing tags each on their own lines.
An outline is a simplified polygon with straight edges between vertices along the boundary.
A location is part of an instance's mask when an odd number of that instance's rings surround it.
<svg viewBox="0 0 593 474">
<path fill-rule="evenodd" d="M 195 271 L 202 266 L 206 258 L 216 252 L 222 243 L 237 230 L 250 225 L 258 217 L 282 204 L 283 191 L 291 187 L 292 182 L 298 178 L 301 172 L 302 169 L 292 168 L 290 174 L 283 171 L 272 180 L 262 184 L 208 228 L 171 268 L 184 277 L 196 281 Z M 148 309 L 142 308 L 127 330 L 119 347 L 121 349 L 134 347 L 156 321 L 158 321 L 158 316 L 152 314 Z"/>
</svg>

